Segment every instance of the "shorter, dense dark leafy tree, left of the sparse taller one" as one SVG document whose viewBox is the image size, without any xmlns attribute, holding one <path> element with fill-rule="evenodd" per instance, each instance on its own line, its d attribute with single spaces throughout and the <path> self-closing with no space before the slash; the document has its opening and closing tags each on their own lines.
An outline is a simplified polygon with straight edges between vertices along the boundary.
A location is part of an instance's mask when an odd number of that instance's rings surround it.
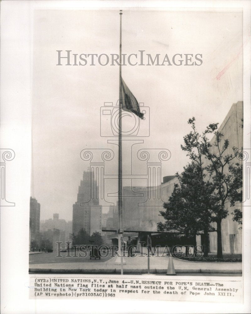
<svg viewBox="0 0 251 314">
<path fill-rule="evenodd" d="M 202 174 L 202 176 L 201 176 Z M 210 225 L 212 212 L 207 206 L 213 191 L 212 184 L 205 180 L 206 174 L 201 171 L 200 165 L 192 161 L 181 175 L 176 173 L 179 184 L 174 185 L 174 190 L 169 198 L 169 204 L 164 203 L 166 211 L 160 214 L 165 218 L 165 223 L 158 223 L 158 229 L 178 230 L 196 245 L 196 234 L 204 233 L 204 256 L 208 255 L 208 232 L 213 228 Z"/>
</svg>

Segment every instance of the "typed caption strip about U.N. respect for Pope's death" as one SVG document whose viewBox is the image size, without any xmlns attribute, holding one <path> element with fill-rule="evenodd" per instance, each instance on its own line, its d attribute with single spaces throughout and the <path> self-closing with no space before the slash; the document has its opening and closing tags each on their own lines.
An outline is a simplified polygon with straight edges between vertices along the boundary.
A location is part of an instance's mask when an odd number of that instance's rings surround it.
<svg viewBox="0 0 251 314">
<path fill-rule="evenodd" d="M 30 298 L 131 298 L 174 301 L 241 302 L 242 281 L 142 277 L 32 276 Z"/>
</svg>

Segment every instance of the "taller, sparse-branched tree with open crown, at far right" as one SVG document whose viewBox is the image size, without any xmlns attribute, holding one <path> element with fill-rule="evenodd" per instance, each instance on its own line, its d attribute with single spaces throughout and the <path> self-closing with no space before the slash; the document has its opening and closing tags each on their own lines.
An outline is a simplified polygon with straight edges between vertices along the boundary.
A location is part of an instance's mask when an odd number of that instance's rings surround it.
<svg viewBox="0 0 251 314">
<path fill-rule="evenodd" d="M 217 257 L 222 258 L 221 222 L 228 215 L 226 203 L 230 202 L 230 206 L 234 206 L 235 202 L 242 200 L 242 165 L 231 163 L 237 156 L 238 149 L 233 147 L 233 153 L 227 154 L 229 141 L 224 139 L 222 142 L 223 134 L 217 131 L 218 123 L 209 124 L 202 135 L 196 131 L 194 117 L 188 120 L 188 124 L 192 131 L 184 137 L 185 144 L 181 148 L 199 166 L 201 182 L 210 182 L 213 187 L 206 204 L 212 213 L 211 220 L 217 225 Z M 211 133 L 215 135 L 213 145 L 207 138 Z M 206 166 L 205 160 L 208 160 Z M 207 174 L 203 178 L 204 172 Z"/>
</svg>

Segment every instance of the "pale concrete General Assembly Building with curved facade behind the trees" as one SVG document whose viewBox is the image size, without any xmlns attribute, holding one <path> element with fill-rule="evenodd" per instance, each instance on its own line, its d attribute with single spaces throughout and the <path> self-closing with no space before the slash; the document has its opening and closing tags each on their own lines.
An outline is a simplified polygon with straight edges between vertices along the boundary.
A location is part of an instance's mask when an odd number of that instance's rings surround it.
<svg viewBox="0 0 251 314">
<path fill-rule="evenodd" d="M 239 101 L 232 105 L 226 118 L 224 119 L 218 131 L 222 132 L 224 139 L 229 140 L 229 147 L 225 154 L 233 153 L 232 147 L 242 148 L 243 145 L 243 102 Z M 212 138 L 211 144 L 215 142 Z M 212 149 L 216 149 L 212 146 Z M 208 161 L 205 160 L 205 164 Z M 233 163 L 239 162 L 236 158 Z M 174 184 L 178 183 L 175 176 L 167 176 L 163 178 L 161 185 L 161 198 L 157 197 L 159 187 L 123 187 L 123 210 L 122 221 L 123 230 L 137 231 L 157 231 L 157 223 L 164 222 L 164 218 L 160 215 L 163 210 L 163 202 L 168 202 L 169 197 L 174 189 Z M 242 252 L 242 231 L 240 225 L 232 220 L 233 207 L 226 203 L 229 215 L 222 220 L 222 248 L 224 254 L 239 254 Z M 240 208 L 241 209 L 241 208 Z M 107 218 L 107 229 L 111 227 L 110 217 Z M 212 224 L 216 229 L 216 223 Z M 114 230 L 117 230 L 114 225 Z M 217 252 L 217 233 L 210 232 L 210 252 Z M 201 244 L 201 236 L 197 236 L 197 244 Z"/>
</svg>

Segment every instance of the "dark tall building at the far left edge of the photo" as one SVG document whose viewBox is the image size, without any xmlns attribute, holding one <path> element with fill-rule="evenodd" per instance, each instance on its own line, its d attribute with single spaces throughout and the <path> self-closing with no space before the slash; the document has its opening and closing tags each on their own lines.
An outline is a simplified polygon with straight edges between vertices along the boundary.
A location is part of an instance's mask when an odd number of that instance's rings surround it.
<svg viewBox="0 0 251 314">
<path fill-rule="evenodd" d="M 40 227 L 40 203 L 35 198 L 30 197 L 29 206 L 30 217 L 30 250 L 38 249 L 39 227 Z"/>
</svg>

